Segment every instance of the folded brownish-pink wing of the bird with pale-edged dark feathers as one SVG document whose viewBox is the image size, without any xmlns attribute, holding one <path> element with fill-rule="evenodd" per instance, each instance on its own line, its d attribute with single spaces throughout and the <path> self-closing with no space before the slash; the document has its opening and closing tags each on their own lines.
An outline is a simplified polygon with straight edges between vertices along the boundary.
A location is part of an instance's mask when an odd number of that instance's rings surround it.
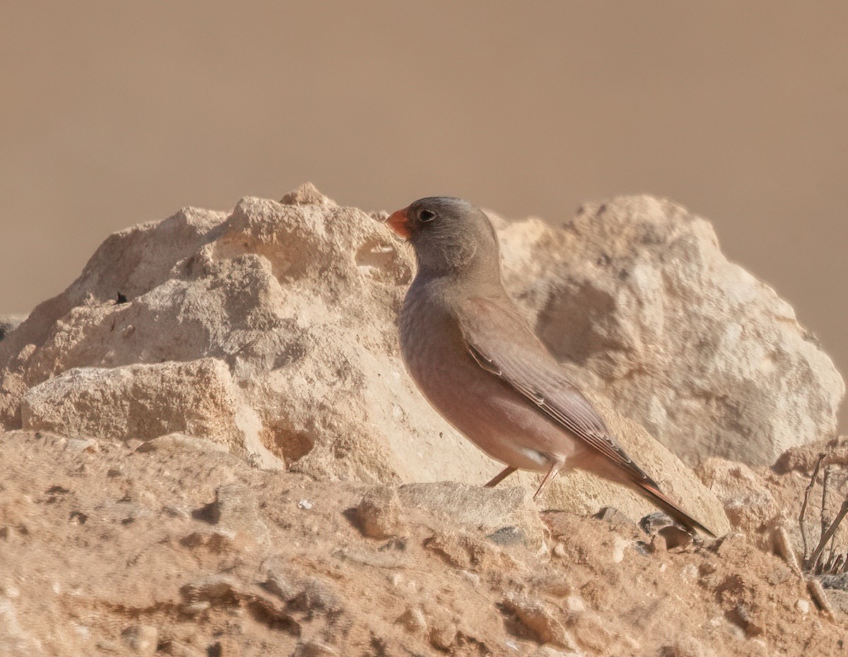
<svg viewBox="0 0 848 657">
<path fill-rule="evenodd" d="M 471 298 L 459 315 L 466 348 L 478 365 L 508 383 L 635 482 L 657 487 L 612 439 L 604 420 L 568 381 L 511 302 Z"/>
</svg>

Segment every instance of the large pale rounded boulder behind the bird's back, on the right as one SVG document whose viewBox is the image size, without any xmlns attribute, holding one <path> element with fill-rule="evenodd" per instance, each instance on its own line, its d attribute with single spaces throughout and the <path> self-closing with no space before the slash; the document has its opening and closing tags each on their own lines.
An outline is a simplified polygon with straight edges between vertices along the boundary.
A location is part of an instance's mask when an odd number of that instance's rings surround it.
<svg viewBox="0 0 848 657">
<path fill-rule="evenodd" d="M 507 286 L 575 381 L 685 462 L 771 465 L 834 432 L 845 384 L 833 363 L 695 214 L 623 197 L 500 239 Z"/>
</svg>

